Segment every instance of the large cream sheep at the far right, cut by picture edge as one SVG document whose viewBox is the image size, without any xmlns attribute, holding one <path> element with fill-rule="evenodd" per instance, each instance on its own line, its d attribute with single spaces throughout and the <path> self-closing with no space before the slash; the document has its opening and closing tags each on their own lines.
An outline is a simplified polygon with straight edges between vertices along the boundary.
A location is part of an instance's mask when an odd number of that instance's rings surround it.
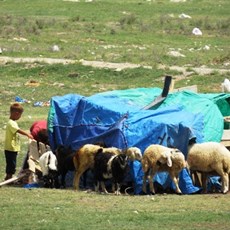
<svg viewBox="0 0 230 230">
<path fill-rule="evenodd" d="M 201 172 L 202 187 L 207 192 L 207 175 L 219 175 L 222 181 L 221 191 L 229 190 L 230 152 L 221 143 L 204 142 L 189 145 L 187 156 L 188 168 Z"/>
</svg>

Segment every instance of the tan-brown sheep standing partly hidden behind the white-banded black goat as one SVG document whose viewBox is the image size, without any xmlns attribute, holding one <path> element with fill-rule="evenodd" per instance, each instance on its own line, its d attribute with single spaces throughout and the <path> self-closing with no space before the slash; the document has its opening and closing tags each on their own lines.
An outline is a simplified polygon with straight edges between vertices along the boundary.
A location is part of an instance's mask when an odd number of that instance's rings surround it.
<svg viewBox="0 0 230 230">
<path fill-rule="evenodd" d="M 75 190 L 79 190 L 79 181 L 81 175 L 88 169 L 93 169 L 94 167 L 94 157 L 99 149 L 103 149 L 105 152 L 112 152 L 114 155 L 125 153 L 128 155 L 130 160 L 140 160 L 142 158 L 141 151 L 137 147 L 130 147 L 124 151 L 116 147 L 101 147 L 96 144 L 85 144 L 83 145 L 73 158 L 74 166 L 75 166 L 75 175 L 73 188 Z"/>
</svg>

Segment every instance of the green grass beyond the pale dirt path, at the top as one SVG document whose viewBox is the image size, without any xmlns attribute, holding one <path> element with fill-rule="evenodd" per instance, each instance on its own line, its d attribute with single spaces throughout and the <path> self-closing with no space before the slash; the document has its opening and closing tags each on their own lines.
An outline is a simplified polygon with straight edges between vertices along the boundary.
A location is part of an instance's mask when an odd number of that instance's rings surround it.
<svg viewBox="0 0 230 230">
<path fill-rule="evenodd" d="M 217 65 L 229 60 L 229 1 L 2 1 L 1 46 L 7 56 L 45 56 L 155 66 Z M 191 19 L 180 19 L 186 13 Z M 199 27 L 203 36 L 192 35 Z M 15 38 L 25 38 L 18 41 Z M 60 52 L 51 52 L 57 44 Z M 111 46 L 110 48 L 106 48 Z M 202 50 L 205 45 L 210 50 Z M 170 48 L 184 58 L 168 58 Z M 191 51 L 195 49 L 195 51 Z"/>
</svg>

